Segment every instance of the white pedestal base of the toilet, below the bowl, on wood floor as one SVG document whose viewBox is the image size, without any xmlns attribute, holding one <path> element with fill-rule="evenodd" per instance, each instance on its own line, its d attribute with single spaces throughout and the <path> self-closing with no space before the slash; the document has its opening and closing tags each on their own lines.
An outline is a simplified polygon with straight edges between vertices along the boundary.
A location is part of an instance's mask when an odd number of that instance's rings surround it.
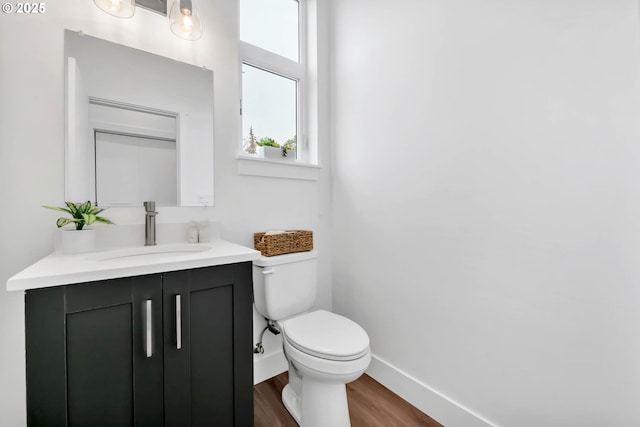
<svg viewBox="0 0 640 427">
<path fill-rule="evenodd" d="M 344 384 L 303 379 L 298 396 L 291 384 L 282 390 L 282 403 L 301 427 L 351 427 Z"/>
</svg>

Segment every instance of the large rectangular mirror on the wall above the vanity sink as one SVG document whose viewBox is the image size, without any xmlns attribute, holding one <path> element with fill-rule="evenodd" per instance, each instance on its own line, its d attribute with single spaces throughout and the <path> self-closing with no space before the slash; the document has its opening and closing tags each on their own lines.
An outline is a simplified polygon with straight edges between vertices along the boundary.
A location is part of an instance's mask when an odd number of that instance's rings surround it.
<svg viewBox="0 0 640 427">
<path fill-rule="evenodd" d="M 213 72 L 65 31 L 65 199 L 213 205 Z"/>
</svg>

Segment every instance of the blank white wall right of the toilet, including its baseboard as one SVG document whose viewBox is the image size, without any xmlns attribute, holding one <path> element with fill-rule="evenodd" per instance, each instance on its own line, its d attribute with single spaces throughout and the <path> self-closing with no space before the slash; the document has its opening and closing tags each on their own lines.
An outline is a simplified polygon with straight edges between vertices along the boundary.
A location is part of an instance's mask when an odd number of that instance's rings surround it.
<svg viewBox="0 0 640 427">
<path fill-rule="evenodd" d="M 447 426 L 640 425 L 638 2 L 332 5 L 334 310 L 373 372 Z"/>
</svg>

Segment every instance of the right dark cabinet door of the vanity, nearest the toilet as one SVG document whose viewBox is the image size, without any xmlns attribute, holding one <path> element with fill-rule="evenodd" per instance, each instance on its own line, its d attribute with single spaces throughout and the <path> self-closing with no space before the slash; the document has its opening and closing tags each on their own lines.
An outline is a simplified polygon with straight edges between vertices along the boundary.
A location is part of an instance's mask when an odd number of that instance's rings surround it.
<svg viewBox="0 0 640 427">
<path fill-rule="evenodd" d="M 165 426 L 253 425 L 251 267 L 165 273 Z"/>
</svg>

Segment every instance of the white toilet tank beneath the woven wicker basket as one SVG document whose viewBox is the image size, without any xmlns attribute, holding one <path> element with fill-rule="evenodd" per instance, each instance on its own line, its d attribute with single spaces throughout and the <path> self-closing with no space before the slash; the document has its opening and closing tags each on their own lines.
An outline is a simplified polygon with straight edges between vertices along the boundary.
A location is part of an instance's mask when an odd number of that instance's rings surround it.
<svg viewBox="0 0 640 427">
<path fill-rule="evenodd" d="M 318 253 L 260 257 L 253 262 L 253 299 L 258 313 L 282 320 L 313 307 L 318 285 Z"/>
</svg>

